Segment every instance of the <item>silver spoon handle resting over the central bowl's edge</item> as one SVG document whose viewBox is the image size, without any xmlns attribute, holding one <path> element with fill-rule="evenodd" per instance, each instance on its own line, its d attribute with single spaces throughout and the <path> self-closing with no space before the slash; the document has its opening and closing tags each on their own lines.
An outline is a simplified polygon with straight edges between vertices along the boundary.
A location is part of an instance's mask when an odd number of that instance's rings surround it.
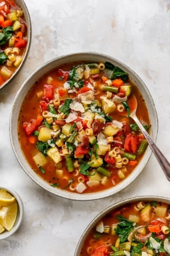
<svg viewBox="0 0 170 256">
<path fill-rule="evenodd" d="M 165 173 L 166 178 L 170 182 L 170 163 L 165 158 L 165 156 L 161 153 L 161 151 L 158 149 L 158 147 L 153 142 L 151 137 L 148 135 L 148 132 L 143 128 L 143 125 L 140 123 L 140 121 L 137 118 L 137 116 L 133 115 L 131 117 L 134 119 L 134 121 L 137 123 L 137 125 L 140 128 L 140 130 L 142 131 L 143 135 L 145 136 L 146 140 L 148 141 L 149 146 L 152 149 L 153 154 L 157 158 L 158 163 L 160 164 L 163 172 Z"/>
</svg>

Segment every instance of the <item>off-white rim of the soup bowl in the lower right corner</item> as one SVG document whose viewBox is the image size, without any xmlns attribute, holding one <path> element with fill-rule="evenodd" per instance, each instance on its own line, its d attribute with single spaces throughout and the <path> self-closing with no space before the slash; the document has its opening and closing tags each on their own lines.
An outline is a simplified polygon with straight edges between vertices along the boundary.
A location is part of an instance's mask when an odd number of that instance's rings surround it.
<svg viewBox="0 0 170 256">
<path fill-rule="evenodd" d="M 122 200 L 120 202 L 117 202 L 116 204 L 113 204 L 109 207 L 107 207 L 106 209 L 104 209 L 103 211 L 101 211 L 87 226 L 87 228 L 85 228 L 85 231 L 83 232 L 83 234 L 80 237 L 80 240 L 76 246 L 76 251 L 74 253 L 74 256 L 80 256 L 80 251 L 81 251 L 81 247 L 83 245 L 83 242 L 85 241 L 86 236 L 89 234 L 89 231 L 95 226 L 96 223 L 98 223 L 98 221 L 103 218 L 103 216 L 105 216 L 107 213 L 109 213 L 110 211 L 112 211 L 113 209 L 116 209 L 117 207 L 120 207 L 122 205 L 128 204 L 128 203 L 132 203 L 134 201 L 161 201 L 164 203 L 168 203 L 170 204 L 170 198 L 167 197 L 162 197 L 162 196 L 156 196 L 156 195 L 143 195 L 143 196 L 136 196 L 136 197 L 132 197 L 132 198 L 128 198 L 125 200 Z"/>
</svg>

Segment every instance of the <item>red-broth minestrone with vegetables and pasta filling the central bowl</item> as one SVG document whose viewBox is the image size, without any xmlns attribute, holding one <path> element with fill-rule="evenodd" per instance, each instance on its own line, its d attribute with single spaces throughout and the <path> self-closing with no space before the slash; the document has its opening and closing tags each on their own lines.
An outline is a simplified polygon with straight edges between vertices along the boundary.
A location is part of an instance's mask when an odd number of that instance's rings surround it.
<svg viewBox="0 0 170 256">
<path fill-rule="evenodd" d="M 46 74 L 19 115 L 20 144 L 32 169 L 51 186 L 78 193 L 124 180 L 147 147 L 129 117 L 135 94 L 143 126 L 149 118 L 128 74 L 106 63 L 74 63 Z"/>
</svg>

